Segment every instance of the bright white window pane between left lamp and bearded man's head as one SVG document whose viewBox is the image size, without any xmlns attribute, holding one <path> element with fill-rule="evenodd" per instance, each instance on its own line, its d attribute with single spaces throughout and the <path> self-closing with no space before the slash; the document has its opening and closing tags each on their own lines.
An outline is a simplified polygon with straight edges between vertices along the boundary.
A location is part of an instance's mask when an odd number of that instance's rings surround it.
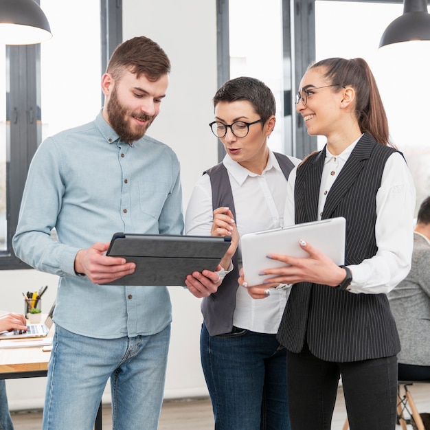
<svg viewBox="0 0 430 430">
<path fill-rule="evenodd" d="M 41 8 L 49 16 L 54 34 L 41 43 L 41 119 L 45 139 L 93 120 L 100 110 L 100 3 L 73 0 L 73 8 L 67 14 L 58 0 L 41 0 Z M 84 32 L 76 31 L 77 23 Z"/>
</svg>

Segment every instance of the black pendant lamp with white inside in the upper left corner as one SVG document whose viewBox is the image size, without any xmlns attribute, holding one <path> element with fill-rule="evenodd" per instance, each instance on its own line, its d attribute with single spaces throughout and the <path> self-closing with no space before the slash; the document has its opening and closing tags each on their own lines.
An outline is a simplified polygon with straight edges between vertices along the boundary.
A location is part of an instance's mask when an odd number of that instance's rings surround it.
<svg viewBox="0 0 430 430">
<path fill-rule="evenodd" d="M 34 0 L 0 0 L 0 43 L 32 45 L 52 38 L 51 27 Z"/>
</svg>

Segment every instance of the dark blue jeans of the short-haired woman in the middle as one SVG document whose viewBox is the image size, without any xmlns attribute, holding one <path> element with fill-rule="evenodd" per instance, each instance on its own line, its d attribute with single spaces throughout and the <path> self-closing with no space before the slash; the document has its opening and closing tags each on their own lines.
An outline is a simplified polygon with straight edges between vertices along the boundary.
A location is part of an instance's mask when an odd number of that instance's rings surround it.
<svg viewBox="0 0 430 430">
<path fill-rule="evenodd" d="M 290 430 L 286 350 L 275 335 L 201 330 L 201 362 L 216 430 Z"/>
</svg>

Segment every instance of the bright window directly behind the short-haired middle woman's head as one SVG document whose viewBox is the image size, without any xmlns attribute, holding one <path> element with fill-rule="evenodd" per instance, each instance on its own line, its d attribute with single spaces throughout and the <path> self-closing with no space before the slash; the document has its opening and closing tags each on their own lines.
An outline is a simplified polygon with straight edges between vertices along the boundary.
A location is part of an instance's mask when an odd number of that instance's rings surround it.
<svg viewBox="0 0 430 430">
<path fill-rule="evenodd" d="M 218 41 L 218 83 L 252 76 L 267 84 L 275 95 L 277 107 L 269 146 L 292 154 L 289 10 L 283 3 L 286 1 L 265 0 L 262 5 L 261 0 L 218 0 L 218 10 L 224 17 L 218 19 L 218 34 L 223 40 Z M 223 47 L 227 47 L 227 52 L 220 56 Z M 222 158 L 225 151 L 220 147 Z"/>
</svg>

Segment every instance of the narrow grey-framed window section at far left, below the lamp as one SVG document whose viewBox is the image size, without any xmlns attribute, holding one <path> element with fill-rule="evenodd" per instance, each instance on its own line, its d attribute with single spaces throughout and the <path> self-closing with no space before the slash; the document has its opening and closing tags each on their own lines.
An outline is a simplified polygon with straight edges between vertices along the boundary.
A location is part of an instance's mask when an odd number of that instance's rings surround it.
<svg viewBox="0 0 430 430">
<path fill-rule="evenodd" d="M 0 268 L 19 267 L 11 242 L 28 164 L 40 136 L 39 45 L 2 46 L 0 79 Z M 30 91 L 33 88 L 33 91 Z"/>
</svg>

